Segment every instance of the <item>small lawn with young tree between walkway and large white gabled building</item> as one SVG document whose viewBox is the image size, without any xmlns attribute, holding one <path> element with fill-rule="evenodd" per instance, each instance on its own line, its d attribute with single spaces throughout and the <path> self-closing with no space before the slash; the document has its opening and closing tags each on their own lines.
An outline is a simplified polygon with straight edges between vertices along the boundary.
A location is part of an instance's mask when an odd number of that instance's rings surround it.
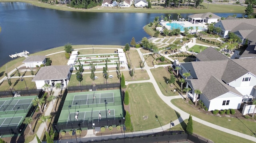
<svg viewBox="0 0 256 143">
<path fill-rule="evenodd" d="M 180 85 L 178 85 L 178 80 L 176 79 L 175 84 L 173 84 L 171 87 L 170 84 L 167 86 L 167 92 L 166 92 L 166 81 L 170 78 L 170 72 L 168 72 L 167 67 L 158 67 L 156 69 L 150 69 L 152 72 L 156 83 L 158 84 L 158 87 L 160 88 L 162 94 L 165 96 L 174 96 L 174 95 L 179 95 L 178 89 L 180 89 Z M 161 74 L 160 74 L 161 73 Z M 174 93 L 174 89 L 176 92 Z"/>
</svg>

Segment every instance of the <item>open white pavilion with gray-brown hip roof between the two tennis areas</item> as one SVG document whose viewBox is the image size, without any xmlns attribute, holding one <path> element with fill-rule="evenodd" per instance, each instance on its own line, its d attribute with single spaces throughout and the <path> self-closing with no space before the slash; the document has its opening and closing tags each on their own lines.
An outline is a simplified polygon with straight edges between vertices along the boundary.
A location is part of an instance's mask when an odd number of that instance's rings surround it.
<svg viewBox="0 0 256 143">
<path fill-rule="evenodd" d="M 41 67 L 32 81 L 36 82 L 37 89 L 41 89 L 46 83 L 52 86 L 56 83 L 62 83 L 62 86 L 66 87 L 71 75 L 70 67 L 70 65 Z"/>
</svg>

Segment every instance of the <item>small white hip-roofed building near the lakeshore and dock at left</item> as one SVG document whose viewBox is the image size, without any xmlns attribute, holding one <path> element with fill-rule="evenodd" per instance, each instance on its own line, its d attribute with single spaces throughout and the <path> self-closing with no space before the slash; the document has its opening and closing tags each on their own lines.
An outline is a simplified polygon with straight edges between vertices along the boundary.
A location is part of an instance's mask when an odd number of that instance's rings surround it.
<svg viewBox="0 0 256 143">
<path fill-rule="evenodd" d="M 42 64 L 44 65 L 46 63 L 46 56 L 28 56 L 22 63 L 25 63 L 26 68 L 33 68 Z"/>
</svg>

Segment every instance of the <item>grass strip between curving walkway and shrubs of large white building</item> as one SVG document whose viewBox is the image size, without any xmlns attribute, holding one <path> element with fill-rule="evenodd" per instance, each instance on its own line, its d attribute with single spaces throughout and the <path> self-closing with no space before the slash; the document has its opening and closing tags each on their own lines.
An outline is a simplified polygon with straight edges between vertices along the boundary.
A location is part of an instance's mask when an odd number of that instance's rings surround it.
<svg viewBox="0 0 256 143">
<path fill-rule="evenodd" d="M 210 123 L 214 123 L 215 125 L 220 125 L 222 127 L 232 129 L 246 135 L 254 135 L 256 131 L 256 124 L 254 121 L 247 121 L 245 119 L 238 119 L 233 117 L 225 117 L 225 115 L 222 115 L 222 117 L 206 115 L 204 113 L 198 112 L 196 108 L 188 105 L 188 103 L 186 103 L 182 99 L 174 99 L 171 102 L 181 110 L 186 111 L 188 114 L 191 114 L 192 116 L 203 119 Z M 211 113 L 209 112 L 209 114 Z"/>
</svg>

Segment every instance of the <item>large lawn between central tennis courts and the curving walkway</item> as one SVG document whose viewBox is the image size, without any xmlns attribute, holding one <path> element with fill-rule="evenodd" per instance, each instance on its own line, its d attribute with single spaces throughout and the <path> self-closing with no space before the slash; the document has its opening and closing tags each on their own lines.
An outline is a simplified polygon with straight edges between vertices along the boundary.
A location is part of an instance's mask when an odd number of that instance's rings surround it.
<svg viewBox="0 0 256 143">
<path fill-rule="evenodd" d="M 130 115 L 134 131 L 153 129 L 178 119 L 180 115 L 165 104 L 152 83 L 129 84 Z M 155 116 L 158 116 L 158 120 Z M 148 119 L 143 119 L 148 116 Z"/>
</svg>

